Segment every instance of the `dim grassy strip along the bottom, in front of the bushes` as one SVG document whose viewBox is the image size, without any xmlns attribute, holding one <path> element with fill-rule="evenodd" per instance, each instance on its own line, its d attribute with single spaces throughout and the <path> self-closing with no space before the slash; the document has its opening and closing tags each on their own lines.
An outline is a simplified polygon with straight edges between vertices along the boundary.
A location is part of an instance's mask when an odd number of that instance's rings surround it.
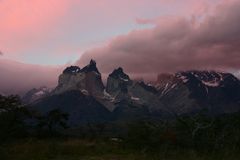
<svg viewBox="0 0 240 160">
<path fill-rule="evenodd" d="M 238 160 L 230 152 L 196 153 L 192 150 L 134 150 L 111 141 L 27 138 L 0 146 L 1 160 Z"/>
</svg>

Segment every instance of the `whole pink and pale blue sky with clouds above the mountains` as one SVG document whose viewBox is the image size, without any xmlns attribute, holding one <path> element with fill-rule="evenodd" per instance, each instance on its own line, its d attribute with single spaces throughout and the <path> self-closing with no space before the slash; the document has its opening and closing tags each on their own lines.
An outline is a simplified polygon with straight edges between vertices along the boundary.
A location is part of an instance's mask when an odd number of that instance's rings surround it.
<svg viewBox="0 0 240 160">
<path fill-rule="evenodd" d="M 239 0 L 0 0 L 0 91 L 25 74 L 34 82 L 14 91 L 54 85 L 65 65 L 91 58 L 103 74 L 122 66 L 140 76 L 238 75 L 239 8 Z"/>
</svg>

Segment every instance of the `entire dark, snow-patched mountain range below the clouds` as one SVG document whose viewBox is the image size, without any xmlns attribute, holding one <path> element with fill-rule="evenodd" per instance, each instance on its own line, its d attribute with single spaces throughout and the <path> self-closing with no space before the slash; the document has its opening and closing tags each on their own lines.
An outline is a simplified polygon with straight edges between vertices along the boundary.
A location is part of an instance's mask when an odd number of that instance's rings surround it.
<svg viewBox="0 0 240 160">
<path fill-rule="evenodd" d="M 96 62 L 82 69 L 67 67 L 56 88 L 32 89 L 23 96 L 32 108 L 46 113 L 60 109 L 69 123 L 171 118 L 206 112 L 210 116 L 240 110 L 240 80 L 230 73 L 183 71 L 160 74 L 155 82 L 132 80 L 119 67 L 104 85 Z"/>
</svg>

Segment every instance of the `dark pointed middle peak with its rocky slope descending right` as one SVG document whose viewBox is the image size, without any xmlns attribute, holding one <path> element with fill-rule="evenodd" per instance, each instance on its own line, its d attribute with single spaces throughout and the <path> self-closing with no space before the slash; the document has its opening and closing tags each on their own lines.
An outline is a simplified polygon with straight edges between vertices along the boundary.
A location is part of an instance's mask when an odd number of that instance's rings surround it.
<svg viewBox="0 0 240 160">
<path fill-rule="evenodd" d="M 139 109 L 148 106 L 149 112 L 166 109 L 159 101 L 158 91 L 153 86 L 143 81 L 132 81 L 122 68 L 115 69 L 109 75 L 106 91 L 114 98 L 118 111 L 121 110 L 121 106 L 126 110 L 127 104 Z"/>
</svg>

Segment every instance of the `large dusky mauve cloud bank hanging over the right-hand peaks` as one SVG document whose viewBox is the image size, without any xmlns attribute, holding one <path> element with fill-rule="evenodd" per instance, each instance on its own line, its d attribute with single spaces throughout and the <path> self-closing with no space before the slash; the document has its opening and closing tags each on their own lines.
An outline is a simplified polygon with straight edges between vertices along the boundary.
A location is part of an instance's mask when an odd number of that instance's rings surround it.
<svg viewBox="0 0 240 160">
<path fill-rule="evenodd" d="M 175 17 L 157 21 L 154 28 L 118 36 L 105 47 L 87 51 L 77 63 L 93 58 L 105 73 L 123 66 L 138 75 L 186 69 L 239 70 L 239 8 L 239 1 L 223 1 L 203 20 Z"/>
</svg>

